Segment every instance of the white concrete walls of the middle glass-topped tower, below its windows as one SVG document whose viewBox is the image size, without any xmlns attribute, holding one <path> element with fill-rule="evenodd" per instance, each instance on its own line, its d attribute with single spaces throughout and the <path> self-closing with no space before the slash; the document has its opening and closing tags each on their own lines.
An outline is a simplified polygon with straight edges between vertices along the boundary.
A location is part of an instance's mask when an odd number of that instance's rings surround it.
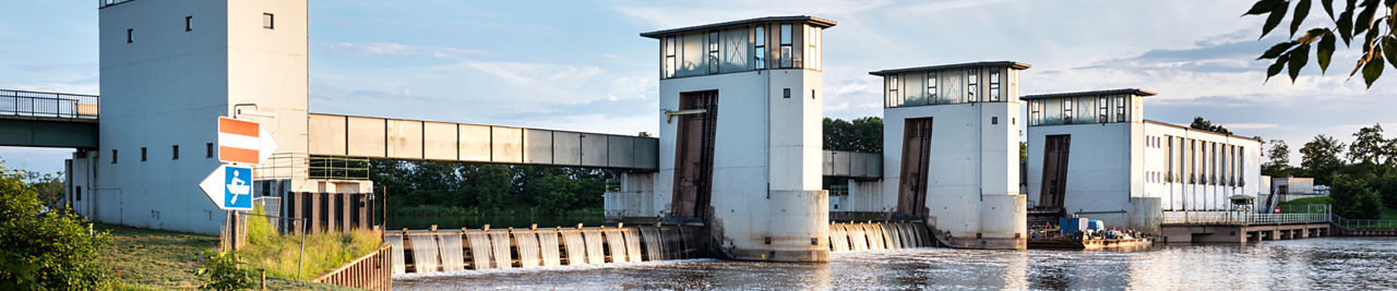
<svg viewBox="0 0 1397 291">
<path fill-rule="evenodd" d="M 977 238 L 964 246 L 1023 248 L 1027 226 L 1018 194 L 1017 99 L 893 107 L 883 114 L 882 205 L 866 210 L 897 206 L 905 120 L 932 117 L 928 223 L 953 238 Z"/>
</svg>

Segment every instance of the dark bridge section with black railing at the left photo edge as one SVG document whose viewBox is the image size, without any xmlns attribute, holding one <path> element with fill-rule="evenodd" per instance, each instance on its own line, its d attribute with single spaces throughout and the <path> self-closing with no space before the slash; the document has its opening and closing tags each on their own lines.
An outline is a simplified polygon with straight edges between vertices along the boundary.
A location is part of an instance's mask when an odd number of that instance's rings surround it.
<svg viewBox="0 0 1397 291">
<path fill-rule="evenodd" d="M 95 149 L 98 96 L 0 89 L 0 146 Z"/>
</svg>

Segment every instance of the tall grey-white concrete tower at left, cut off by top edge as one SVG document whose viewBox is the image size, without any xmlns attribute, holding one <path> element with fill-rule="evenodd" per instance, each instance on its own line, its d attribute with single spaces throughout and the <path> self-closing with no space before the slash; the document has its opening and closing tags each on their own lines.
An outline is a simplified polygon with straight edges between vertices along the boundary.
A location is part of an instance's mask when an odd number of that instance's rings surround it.
<svg viewBox="0 0 1397 291">
<path fill-rule="evenodd" d="M 75 171 L 95 177 L 80 212 L 218 233 L 224 212 L 197 187 L 219 164 L 217 117 L 256 110 L 239 118 L 263 123 L 278 152 L 306 152 L 306 8 L 305 0 L 99 3 L 101 149 L 74 159 L 91 162 Z"/>
</svg>

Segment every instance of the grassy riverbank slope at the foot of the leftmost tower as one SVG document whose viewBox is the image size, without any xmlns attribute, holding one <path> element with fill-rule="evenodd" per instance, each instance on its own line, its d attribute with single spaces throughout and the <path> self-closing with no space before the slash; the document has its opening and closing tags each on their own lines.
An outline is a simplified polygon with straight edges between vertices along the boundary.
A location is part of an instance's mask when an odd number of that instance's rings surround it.
<svg viewBox="0 0 1397 291">
<path fill-rule="evenodd" d="M 193 290 L 200 255 L 218 248 L 218 237 L 145 230 L 112 224 L 94 224 L 96 231 L 110 231 L 112 245 L 101 252 L 101 262 L 113 276 L 116 290 Z M 292 259 L 295 260 L 295 259 Z M 355 290 L 338 285 L 267 278 L 270 290 Z"/>
</svg>

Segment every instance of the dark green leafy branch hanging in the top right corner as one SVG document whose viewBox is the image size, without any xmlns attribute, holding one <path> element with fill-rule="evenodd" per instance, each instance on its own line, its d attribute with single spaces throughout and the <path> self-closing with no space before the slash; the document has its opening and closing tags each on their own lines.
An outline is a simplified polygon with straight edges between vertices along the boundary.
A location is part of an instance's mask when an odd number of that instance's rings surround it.
<svg viewBox="0 0 1397 291">
<path fill-rule="evenodd" d="M 1397 32 L 1397 21 L 1393 21 L 1394 3 L 1391 0 L 1348 0 L 1344 3 L 1347 6 L 1340 7 L 1343 10 L 1334 10 L 1334 0 L 1320 0 L 1319 6 L 1329 14 L 1329 19 L 1334 22 L 1333 26 L 1322 25 L 1295 38 L 1295 32 L 1299 31 L 1301 24 L 1305 22 L 1305 17 L 1309 17 L 1309 11 L 1315 6 L 1310 0 L 1295 1 L 1294 13 L 1289 14 L 1289 38 L 1294 38 L 1294 40 L 1277 43 L 1257 58 L 1274 60 L 1266 68 L 1266 79 L 1280 74 L 1284 68 L 1289 68 L 1291 82 L 1295 82 L 1301 68 L 1309 63 L 1312 45 L 1315 49 L 1315 63 L 1319 64 L 1322 74 L 1327 72 L 1330 60 L 1334 56 L 1336 39 L 1343 39 L 1345 47 L 1351 47 L 1354 43 L 1362 47 L 1362 54 L 1359 54 L 1354 70 L 1348 75 L 1354 77 L 1358 71 L 1362 71 L 1363 82 L 1368 88 L 1373 86 L 1373 81 L 1382 77 L 1383 67 L 1387 67 L 1387 64 L 1383 64 L 1384 57 L 1389 64 L 1397 67 L 1397 35 L 1393 33 Z M 1266 22 L 1261 25 L 1261 38 L 1266 38 L 1271 29 L 1285 19 L 1287 11 L 1291 11 L 1289 7 L 1291 1 L 1288 0 L 1259 0 L 1243 15 L 1266 14 Z M 1334 13 L 1338 14 L 1336 15 Z"/>
</svg>

